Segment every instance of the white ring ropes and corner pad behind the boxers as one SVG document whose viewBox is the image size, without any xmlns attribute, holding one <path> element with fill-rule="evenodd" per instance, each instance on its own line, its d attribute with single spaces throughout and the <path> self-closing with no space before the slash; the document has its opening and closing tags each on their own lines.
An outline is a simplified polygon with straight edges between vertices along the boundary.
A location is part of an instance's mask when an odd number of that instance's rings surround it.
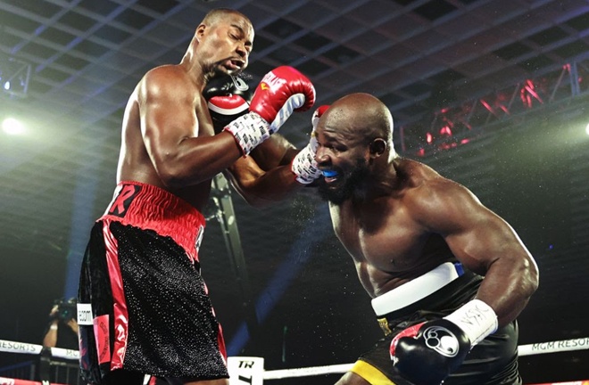
<svg viewBox="0 0 589 385">
<path fill-rule="evenodd" d="M 527 345 L 518 346 L 519 356 L 535 356 L 551 353 L 570 352 L 576 350 L 589 350 L 589 337 L 577 338 L 572 340 L 554 340 L 546 342 L 537 342 Z M 0 352 L 9 354 L 21 354 L 36 357 L 39 360 L 49 358 L 59 358 L 65 361 L 71 361 L 76 364 L 79 359 L 77 350 L 64 348 L 43 348 L 41 345 L 16 342 L 10 340 L 0 340 Z M 264 368 L 264 358 L 256 356 L 230 356 L 228 357 L 228 369 L 230 385 L 261 385 L 264 382 L 278 383 L 276 380 L 292 379 L 299 377 L 310 377 L 325 374 L 343 374 L 347 372 L 353 364 L 337 364 L 310 366 L 292 369 L 266 370 Z M 146 383 L 147 381 L 145 381 Z M 72 379 L 64 385 L 75 385 L 83 383 L 78 378 Z M 34 381 L 33 379 L 18 379 L 6 377 L 3 374 L 3 368 L 0 365 L 0 385 L 62 385 L 62 383 L 51 382 L 49 379 Z M 527 385 L 589 385 L 589 380 L 565 381 L 565 382 L 545 382 Z"/>
</svg>

